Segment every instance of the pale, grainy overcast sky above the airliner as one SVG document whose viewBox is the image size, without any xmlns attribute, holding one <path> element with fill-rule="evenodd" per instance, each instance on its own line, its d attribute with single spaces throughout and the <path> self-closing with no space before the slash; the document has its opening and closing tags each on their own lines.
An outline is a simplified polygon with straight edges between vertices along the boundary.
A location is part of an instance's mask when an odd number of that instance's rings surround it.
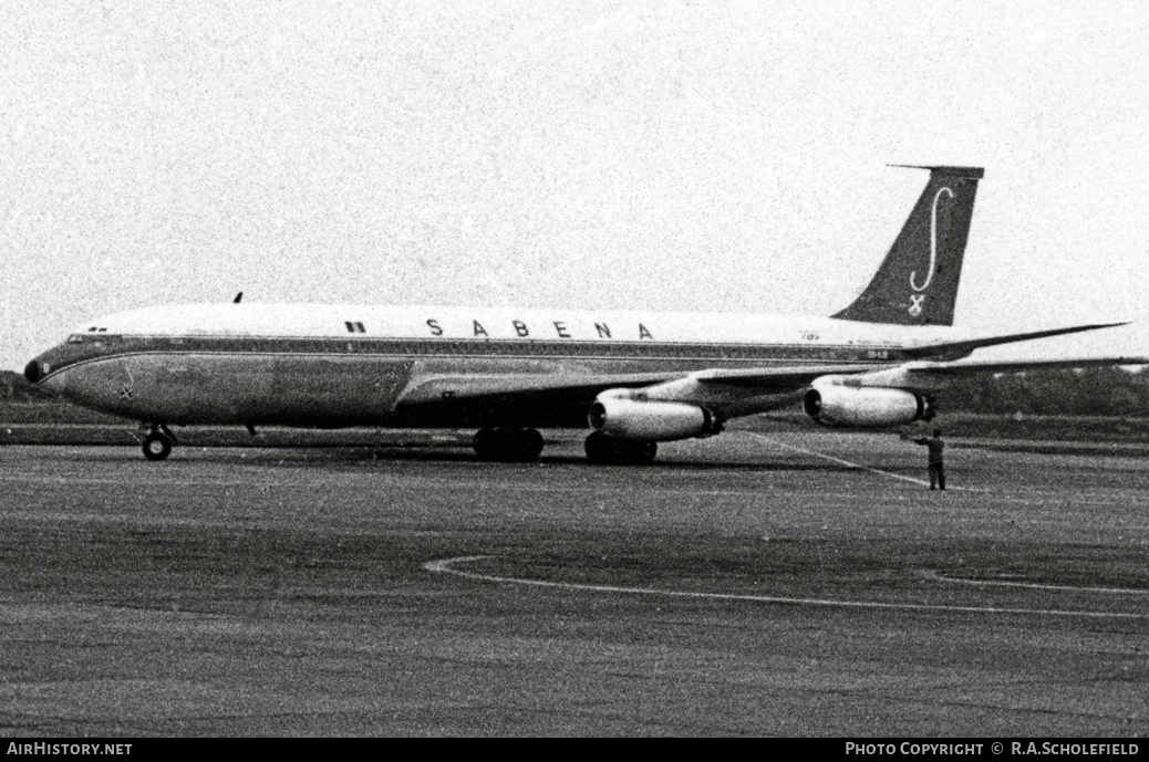
<svg viewBox="0 0 1149 762">
<path fill-rule="evenodd" d="M 239 290 L 830 314 L 926 180 L 896 163 L 986 168 L 957 325 L 1139 318 L 1147 40 L 1095 0 L 9 0 L 0 367 Z M 1149 333 L 1038 353 L 1081 349 Z"/>
</svg>

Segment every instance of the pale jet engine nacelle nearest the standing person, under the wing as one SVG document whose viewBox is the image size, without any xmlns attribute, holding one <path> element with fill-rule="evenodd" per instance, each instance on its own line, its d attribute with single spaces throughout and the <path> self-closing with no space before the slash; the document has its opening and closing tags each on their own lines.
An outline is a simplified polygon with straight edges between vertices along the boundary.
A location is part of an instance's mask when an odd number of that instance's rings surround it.
<svg viewBox="0 0 1149 762">
<path fill-rule="evenodd" d="M 873 387 L 815 386 L 802 397 L 802 410 L 826 426 L 902 426 L 934 417 L 928 397 Z"/>
</svg>

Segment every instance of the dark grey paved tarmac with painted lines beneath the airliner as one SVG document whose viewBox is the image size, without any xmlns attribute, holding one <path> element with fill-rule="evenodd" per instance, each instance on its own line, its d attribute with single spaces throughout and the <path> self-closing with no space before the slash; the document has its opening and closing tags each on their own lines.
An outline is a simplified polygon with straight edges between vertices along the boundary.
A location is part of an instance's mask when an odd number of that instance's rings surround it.
<svg viewBox="0 0 1149 762">
<path fill-rule="evenodd" d="M 543 456 L 0 448 L 0 734 L 1149 732 L 1143 454 Z"/>
</svg>

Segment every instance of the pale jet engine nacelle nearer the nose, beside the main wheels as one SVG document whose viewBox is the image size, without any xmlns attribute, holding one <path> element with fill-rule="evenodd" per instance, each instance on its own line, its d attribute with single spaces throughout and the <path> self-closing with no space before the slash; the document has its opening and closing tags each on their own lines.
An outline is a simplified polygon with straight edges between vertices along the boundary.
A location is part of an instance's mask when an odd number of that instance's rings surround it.
<svg viewBox="0 0 1149 762">
<path fill-rule="evenodd" d="M 608 436 L 646 442 L 686 440 L 722 430 L 720 421 L 705 407 L 609 396 L 591 405 L 587 421 L 595 431 Z"/>
</svg>

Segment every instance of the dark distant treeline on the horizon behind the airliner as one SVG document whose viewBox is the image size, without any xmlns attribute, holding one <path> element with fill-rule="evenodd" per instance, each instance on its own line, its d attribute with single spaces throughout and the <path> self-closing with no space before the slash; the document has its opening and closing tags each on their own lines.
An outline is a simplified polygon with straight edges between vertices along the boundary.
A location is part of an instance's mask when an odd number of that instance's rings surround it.
<svg viewBox="0 0 1149 762">
<path fill-rule="evenodd" d="M 0 372 L 0 399 L 41 402 L 52 395 L 24 376 Z M 1115 367 L 1080 371 L 1036 371 L 966 379 L 938 395 L 941 412 L 1024 415 L 1149 414 L 1149 372 Z"/>
</svg>

